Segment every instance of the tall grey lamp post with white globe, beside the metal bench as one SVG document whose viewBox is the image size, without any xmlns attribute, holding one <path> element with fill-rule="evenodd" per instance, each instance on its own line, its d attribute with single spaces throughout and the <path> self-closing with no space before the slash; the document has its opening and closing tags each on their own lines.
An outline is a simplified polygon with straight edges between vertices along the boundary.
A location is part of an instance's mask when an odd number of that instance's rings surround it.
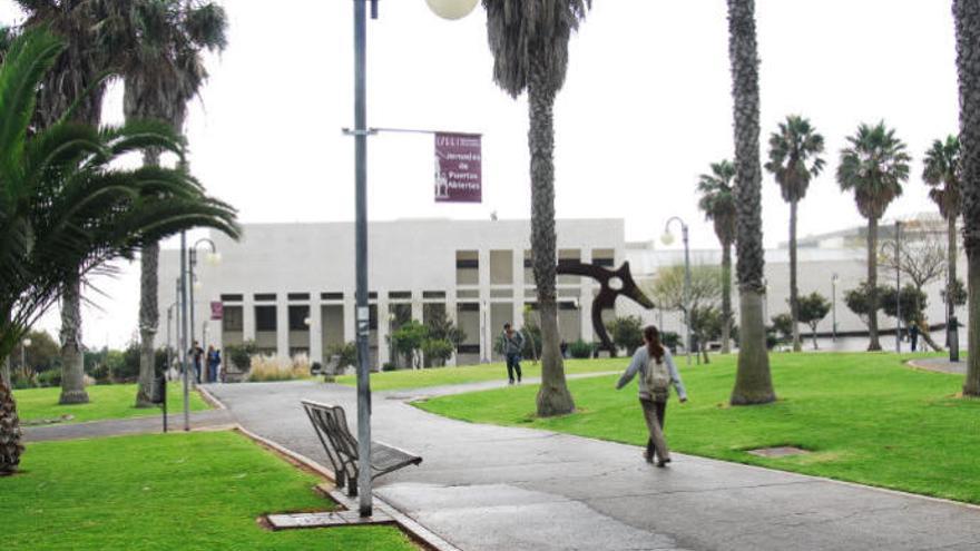
<svg viewBox="0 0 980 551">
<path fill-rule="evenodd" d="M 378 18 L 378 0 L 354 0 L 354 257 L 357 326 L 357 495 L 361 516 L 371 516 L 371 385 L 369 383 L 370 309 L 367 306 L 367 7 Z M 445 19 L 467 16 L 477 0 L 427 0 Z"/>
</svg>

